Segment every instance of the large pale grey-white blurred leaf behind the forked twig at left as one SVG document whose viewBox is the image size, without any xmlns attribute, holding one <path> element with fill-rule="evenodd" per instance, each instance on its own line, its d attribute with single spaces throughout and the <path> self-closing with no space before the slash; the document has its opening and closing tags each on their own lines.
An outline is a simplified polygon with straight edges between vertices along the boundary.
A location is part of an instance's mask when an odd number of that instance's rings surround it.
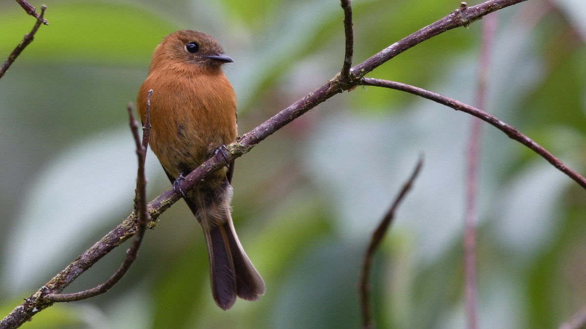
<svg viewBox="0 0 586 329">
<path fill-rule="evenodd" d="M 147 159 L 149 170 L 156 163 Z M 95 229 L 118 224 L 118 209 L 130 214 L 136 168 L 127 130 L 88 139 L 47 164 L 29 191 L 34 202 L 24 205 L 6 243 L 5 289 L 46 282 L 85 250 L 80 244 Z"/>
</svg>

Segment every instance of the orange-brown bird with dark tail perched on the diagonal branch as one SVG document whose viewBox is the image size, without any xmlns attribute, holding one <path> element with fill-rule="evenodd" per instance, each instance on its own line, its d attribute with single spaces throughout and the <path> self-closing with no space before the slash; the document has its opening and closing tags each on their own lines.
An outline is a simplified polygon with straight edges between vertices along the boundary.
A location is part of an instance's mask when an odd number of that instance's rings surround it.
<svg viewBox="0 0 586 329">
<path fill-rule="evenodd" d="M 236 95 L 222 71 L 222 65 L 231 62 L 216 40 L 192 30 L 171 33 L 152 54 L 137 107 L 144 122 L 152 89 L 149 144 L 175 187 L 183 175 L 236 139 Z M 236 296 L 257 300 L 265 292 L 264 281 L 234 230 L 230 214 L 233 169 L 230 163 L 189 193 L 179 189 L 203 227 L 212 294 L 224 310 L 234 305 Z"/>
</svg>

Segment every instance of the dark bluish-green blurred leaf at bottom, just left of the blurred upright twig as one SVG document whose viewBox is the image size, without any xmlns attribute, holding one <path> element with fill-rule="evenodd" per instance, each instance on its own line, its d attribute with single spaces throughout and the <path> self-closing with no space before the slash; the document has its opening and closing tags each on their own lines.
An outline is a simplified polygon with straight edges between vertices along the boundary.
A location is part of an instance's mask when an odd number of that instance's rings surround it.
<svg viewBox="0 0 586 329">
<path fill-rule="evenodd" d="M 272 328 L 351 328 L 360 324 L 356 282 L 362 247 L 322 241 L 301 251 L 276 292 Z M 299 301 L 302 301 L 301 303 Z"/>
</svg>

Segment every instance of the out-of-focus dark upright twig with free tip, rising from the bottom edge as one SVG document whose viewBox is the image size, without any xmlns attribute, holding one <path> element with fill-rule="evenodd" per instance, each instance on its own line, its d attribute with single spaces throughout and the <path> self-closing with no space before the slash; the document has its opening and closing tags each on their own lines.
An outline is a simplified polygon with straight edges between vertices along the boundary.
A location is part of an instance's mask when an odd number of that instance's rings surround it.
<svg viewBox="0 0 586 329">
<path fill-rule="evenodd" d="M 403 185 L 403 188 L 399 191 L 393 204 L 389 208 L 389 211 L 384 215 L 383 220 L 380 221 L 379 226 L 374 230 L 372 233 L 372 238 L 370 239 L 370 244 L 368 249 L 366 249 L 366 253 L 364 254 L 363 262 L 362 262 L 362 270 L 360 271 L 360 308 L 362 309 L 362 327 L 363 328 L 372 328 L 372 310 L 370 309 L 370 284 L 369 284 L 369 277 L 370 277 L 370 266 L 372 265 L 372 259 L 374 256 L 374 252 L 379 248 L 380 243 L 383 241 L 384 235 L 389 230 L 389 225 L 391 225 L 395 211 L 397 210 L 398 205 L 403 201 L 403 198 L 407 195 L 407 192 L 413 186 L 413 182 L 417 175 L 421 171 L 421 167 L 423 166 L 423 155 L 420 156 L 419 160 L 417 161 L 417 165 L 415 165 L 415 169 L 411 174 L 411 177 L 406 181 Z"/>
</svg>

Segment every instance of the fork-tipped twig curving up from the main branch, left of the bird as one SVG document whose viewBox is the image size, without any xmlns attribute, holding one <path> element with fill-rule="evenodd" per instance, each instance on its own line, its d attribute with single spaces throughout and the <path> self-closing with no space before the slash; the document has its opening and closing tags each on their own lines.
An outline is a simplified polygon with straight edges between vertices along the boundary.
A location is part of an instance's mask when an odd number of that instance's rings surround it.
<svg viewBox="0 0 586 329">
<path fill-rule="evenodd" d="M 149 91 L 147 100 L 147 122 L 149 122 L 150 116 L 151 95 L 152 90 Z M 135 259 L 137 259 L 138 249 L 140 249 L 142 239 L 144 238 L 145 232 L 147 231 L 147 224 L 151 220 L 151 217 L 149 216 L 149 213 L 147 211 L 147 177 L 145 176 L 145 159 L 147 157 L 148 135 L 150 129 L 148 129 L 148 125 L 147 128 L 144 128 L 145 133 L 143 135 L 141 143 L 141 140 L 138 136 L 138 122 L 134 119 L 134 115 L 132 115 L 132 104 L 128 105 L 128 116 L 130 118 L 130 130 L 132 131 L 132 136 L 134 137 L 134 141 L 137 146 L 136 152 L 138 156 L 137 189 L 135 197 L 135 214 L 138 214 L 138 219 L 136 233 L 134 235 L 132 245 L 126 251 L 126 257 L 124 258 L 124 262 L 122 262 L 122 264 L 120 265 L 120 267 L 118 267 L 116 272 L 114 272 L 114 274 L 104 283 L 101 283 L 101 285 L 77 293 L 47 294 L 44 297 L 46 301 L 52 303 L 59 301 L 77 301 L 98 296 L 99 294 L 103 294 L 110 290 L 118 282 L 120 282 L 122 276 L 124 276 L 128 272 L 128 269 L 130 269 L 132 263 L 135 261 Z"/>
</svg>

